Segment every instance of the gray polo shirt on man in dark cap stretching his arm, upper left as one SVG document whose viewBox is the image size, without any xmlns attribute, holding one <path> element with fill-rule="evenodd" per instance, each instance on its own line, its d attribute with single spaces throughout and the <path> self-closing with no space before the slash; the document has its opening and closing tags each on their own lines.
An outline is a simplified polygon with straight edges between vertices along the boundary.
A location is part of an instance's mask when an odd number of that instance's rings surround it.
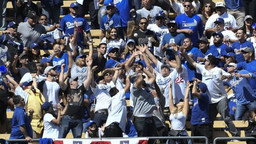
<svg viewBox="0 0 256 144">
<path fill-rule="evenodd" d="M 24 44 L 24 47 L 30 47 L 31 43 L 38 43 L 41 34 L 46 33 L 48 29 L 47 26 L 41 24 L 36 24 L 34 27 L 26 21 L 20 23 L 18 26 L 18 32 L 21 33 L 21 40 Z"/>
</svg>

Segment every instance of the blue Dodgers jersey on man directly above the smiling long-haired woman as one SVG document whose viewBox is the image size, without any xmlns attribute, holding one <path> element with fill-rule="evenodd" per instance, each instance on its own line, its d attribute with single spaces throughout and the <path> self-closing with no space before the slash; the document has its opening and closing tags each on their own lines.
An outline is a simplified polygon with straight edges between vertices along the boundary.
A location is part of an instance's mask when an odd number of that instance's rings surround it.
<svg viewBox="0 0 256 144">
<path fill-rule="evenodd" d="M 119 36 L 124 39 L 124 33 L 123 33 L 123 28 L 122 28 L 122 20 L 120 16 L 117 14 L 114 14 L 112 17 L 108 17 L 108 15 L 104 16 L 102 18 L 102 21 L 100 23 L 100 29 L 102 31 L 108 31 L 110 27 L 116 27 L 119 28 L 118 34 Z"/>
</svg>

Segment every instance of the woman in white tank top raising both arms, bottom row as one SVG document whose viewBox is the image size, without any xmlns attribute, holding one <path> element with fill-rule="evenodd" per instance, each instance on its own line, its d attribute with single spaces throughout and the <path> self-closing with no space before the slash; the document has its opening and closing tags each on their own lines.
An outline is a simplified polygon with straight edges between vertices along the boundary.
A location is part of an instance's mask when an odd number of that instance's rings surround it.
<svg viewBox="0 0 256 144">
<path fill-rule="evenodd" d="M 179 137 L 188 137 L 187 131 L 185 129 L 186 119 L 189 111 L 188 97 L 190 92 L 190 84 L 187 81 L 187 88 L 184 97 L 184 101 L 180 99 L 180 102 L 176 104 L 173 103 L 172 98 L 172 81 L 169 86 L 169 109 L 170 109 L 170 122 L 171 122 L 171 132 L 177 132 L 176 135 L 174 133 L 169 133 L 169 136 L 179 136 Z M 188 139 L 169 139 L 169 144 L 192 144 L 191 140 Z"/>
</svg>

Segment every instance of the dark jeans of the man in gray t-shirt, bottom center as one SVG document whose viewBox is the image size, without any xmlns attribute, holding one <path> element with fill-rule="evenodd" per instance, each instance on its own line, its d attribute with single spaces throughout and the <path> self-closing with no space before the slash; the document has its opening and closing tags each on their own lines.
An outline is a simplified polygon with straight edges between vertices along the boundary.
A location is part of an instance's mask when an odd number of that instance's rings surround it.
<svg viewBox="0 0 256 144">
<path fill-rule="evenodd" d="M 138 133 L 138 137 L 156 137 L 157 129 L 153 117 L 151 118 L 137 118 L 134 120 L 134 127 Z M 153 144 L 153 140 L 149 140 L 148 144 Z"/>
</svg>

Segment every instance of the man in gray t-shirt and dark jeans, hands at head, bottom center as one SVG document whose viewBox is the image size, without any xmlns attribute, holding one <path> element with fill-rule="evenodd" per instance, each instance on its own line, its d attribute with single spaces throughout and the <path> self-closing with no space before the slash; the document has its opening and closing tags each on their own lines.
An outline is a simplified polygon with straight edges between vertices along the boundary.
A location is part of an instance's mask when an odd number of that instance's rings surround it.
<svg viewBox="0 0 256 144">
<path fill-rule="evenodd" d="M 157 134 L 153 111 L 156 110 L 156 105 L 151 91 L 155 76 L 146 68 L 143 68 L 143 72 L 148 76 L 148 81 L 143 80 L 145 76 L 140 72 L 134 73 L 130 78 L 133 83 L 130 87 L 130 98 L 134 102 L 134 127 L 138 137 L 155 137 Z M 149 140 L 148 143 L 153 144 L 154 140 Z"/>
</svg>

